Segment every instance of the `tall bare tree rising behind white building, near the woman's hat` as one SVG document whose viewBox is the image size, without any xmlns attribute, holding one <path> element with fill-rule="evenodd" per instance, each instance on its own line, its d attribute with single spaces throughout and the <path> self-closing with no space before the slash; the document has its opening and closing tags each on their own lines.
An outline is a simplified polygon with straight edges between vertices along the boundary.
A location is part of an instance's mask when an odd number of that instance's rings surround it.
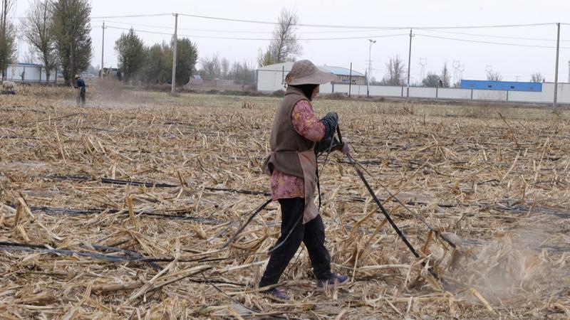
<svg viewBox="0 0 570 320">
<path fill-rule="evenodd" d="M 301 44 L 295 33 L 297 23 L 299 17 L 295 11 L 288 11 L 285 8 L 281 10 L 269 47 L 266 51 L 259 52 L 257 59 L 259 65 L 293 61 L 296 55 L 301 54 Z"/>
</svg>

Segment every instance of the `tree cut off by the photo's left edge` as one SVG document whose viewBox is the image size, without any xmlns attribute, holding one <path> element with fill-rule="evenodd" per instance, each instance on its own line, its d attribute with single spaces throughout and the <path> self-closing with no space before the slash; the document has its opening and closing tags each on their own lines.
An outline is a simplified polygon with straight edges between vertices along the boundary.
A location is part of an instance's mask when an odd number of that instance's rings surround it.
<svg viewBox="0 0 570 320">
<path fill-rule="evenodd" d="M 15 0 L 1 0 L 0 8 L 0 71 L 2 79 L 6 79 L 6 70 L 11 60 L 14 59 L 16 53 L 16 32 L 14 26 L 10 23 L 8 16 L 10 11 L 14 9 Z"/>
</svg>

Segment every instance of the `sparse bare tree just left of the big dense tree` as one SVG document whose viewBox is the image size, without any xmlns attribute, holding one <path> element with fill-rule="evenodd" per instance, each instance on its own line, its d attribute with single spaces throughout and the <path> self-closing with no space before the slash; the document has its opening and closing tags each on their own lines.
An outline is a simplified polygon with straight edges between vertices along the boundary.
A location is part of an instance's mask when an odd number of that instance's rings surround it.
<svg viewBox="0 0 570 320">
<path fill-rule="evenodd" d="M 24 37 L 38 53 L 46 68 L 46 81 L 49 81 L 51 70 L 56 68 L 57 61 L 55 42 L 51 33 L 52 17 L 51 2 L 35 0 L 22 22 Z"/>
</svg>

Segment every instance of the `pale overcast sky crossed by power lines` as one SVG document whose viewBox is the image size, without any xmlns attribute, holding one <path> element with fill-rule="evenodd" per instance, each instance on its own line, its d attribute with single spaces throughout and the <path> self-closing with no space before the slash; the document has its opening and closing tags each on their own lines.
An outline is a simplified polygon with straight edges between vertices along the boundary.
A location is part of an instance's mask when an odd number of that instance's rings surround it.
<svg viewBox="0 0 570 320">
<path fill-rule="evenodd" d="M 24 16 L 31 0 L 17 0 L 16 16 Z M 175 0 L 93 0 L 93 17 L 123 16 L 135 14 L 192 14 L 220 18 L 237 18 L 254 21 L 276 21 L 281 9 L 292 9 L 299 16 L 299 23 L 362 26 L 354 28 L 323 28 L 300 26 L 297 33 L 304 39 L 356 38 L 343 40 L 304 40 L 303 53 L 299 58 L 313 60 L 318 65 L 334 65 L 353 68 L 362 73 L 368 68 L 368 38 L 376 40 L 371 49 L 372 75 L 382 78 L 385 63 L 390 56 L 399 55 L 408 61 L 409 27 L 414 27 L 412 42 L 411 78 L 419 80 L 425 63 L 428 71 L 440 73 L 447 62 L 451 75 L 453 65 L 465 65 L 464 79 L 484 79 L 486 70 L 501 73 L 503 80 L 527 81 L 532 73 L 541 73 L 547 81 L 554 80 L 556 53 L 556 25 L 570 23 L 570 1 L 568 0 L 217 0 L 217 1 L 175 1 Z M 116 67 L 117 59 L 113 49 L 120 33 L 116 28 L 172 33 L 173 16 L 144 18 L 105 18 L 110 27 L 105 31 L 105 66 Z M 93 65 L 100 65 L 103 19 L 93 18 Z M 425 30 L 442 26 L 490 26 L 512 24 L 551 23 L 546 26 L 524 26 L 509 28 L 455 28 Z M 145 25 L 145 26 L 143 26 Z M 156 28 L 155 26 L 161 27 Z M 179 34 L 197 43 L 199 57 L 219 54 L 230 61 L 256 63 L 259 48 L 265 48 L 274 26 L 259 23 L 219 21 L 207 18 L 180 16 Z M 371 30 L 377 27 L 402 27 L 400 30 Z M 423 28 L 423 29 L 422 29 Z M 368 30 L 367 30 L 368 29 Z M 220 32 L 224 31 L 224 32 Z M 468 34 L 466 34 L 468 33 Z M 168 41 L 171 36 L 139 32 L 145 44 Z M 394 36 L 395 35 L 395 36 Z M 477 36 L 474 36 L 477 35 Z M 197 36 L 206 37 L 198 38 Z M 388 37 L 387 37 L 388 36 Z M 434 36 L 440 38 L 433 38 Z M 222 38 L 256 38 L 261 40 L 230 40 Z M 360 38 L 358 38 L 360 37 Z M 447 38 L 447 39 L 444 39 Z M 522 39 L 524 38 L 524 39 Z M 461 39 L 464 41 L 459 41 Z M 534 39 L 534 40 L 529 40 Z M 492 43 L 477 43 L 467 41 Z M 504 46 L 497 43 L 511 43 L 529 46 Z M 569 81 L 570 25 L 561 26 L 559 81 Z M 22 58 L 26 51 L 20 41 Z M 420 60 L 424 58 L 425 60 Z M 457 62 L 458 61 L 458 62 Z M 198 66 L 199 67 L 199 66 Z M 458 79 L 457 79 L 458 80 Z"/>
</svg>

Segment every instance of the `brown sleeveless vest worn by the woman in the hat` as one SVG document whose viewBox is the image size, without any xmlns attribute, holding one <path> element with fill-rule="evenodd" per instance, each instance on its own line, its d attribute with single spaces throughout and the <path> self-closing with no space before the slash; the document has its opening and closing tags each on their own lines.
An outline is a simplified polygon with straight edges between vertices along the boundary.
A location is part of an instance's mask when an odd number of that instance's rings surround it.
<svg viewBox="0 0 570 320">
<path fill-rule="evenodd" d="M 315 143 L 298 134 L 291 123 L 293 108 L 301 100 L 309 101 L 301 90 L 287 87 L 285 97 L 275 114 L 269 138 L 271 155 L 264 163 L 264 171 L 269 169 L 271 173 L 277 169 L 284 174 L 304 178 L 297 152 L 314 149 Z"/>
</svg>

